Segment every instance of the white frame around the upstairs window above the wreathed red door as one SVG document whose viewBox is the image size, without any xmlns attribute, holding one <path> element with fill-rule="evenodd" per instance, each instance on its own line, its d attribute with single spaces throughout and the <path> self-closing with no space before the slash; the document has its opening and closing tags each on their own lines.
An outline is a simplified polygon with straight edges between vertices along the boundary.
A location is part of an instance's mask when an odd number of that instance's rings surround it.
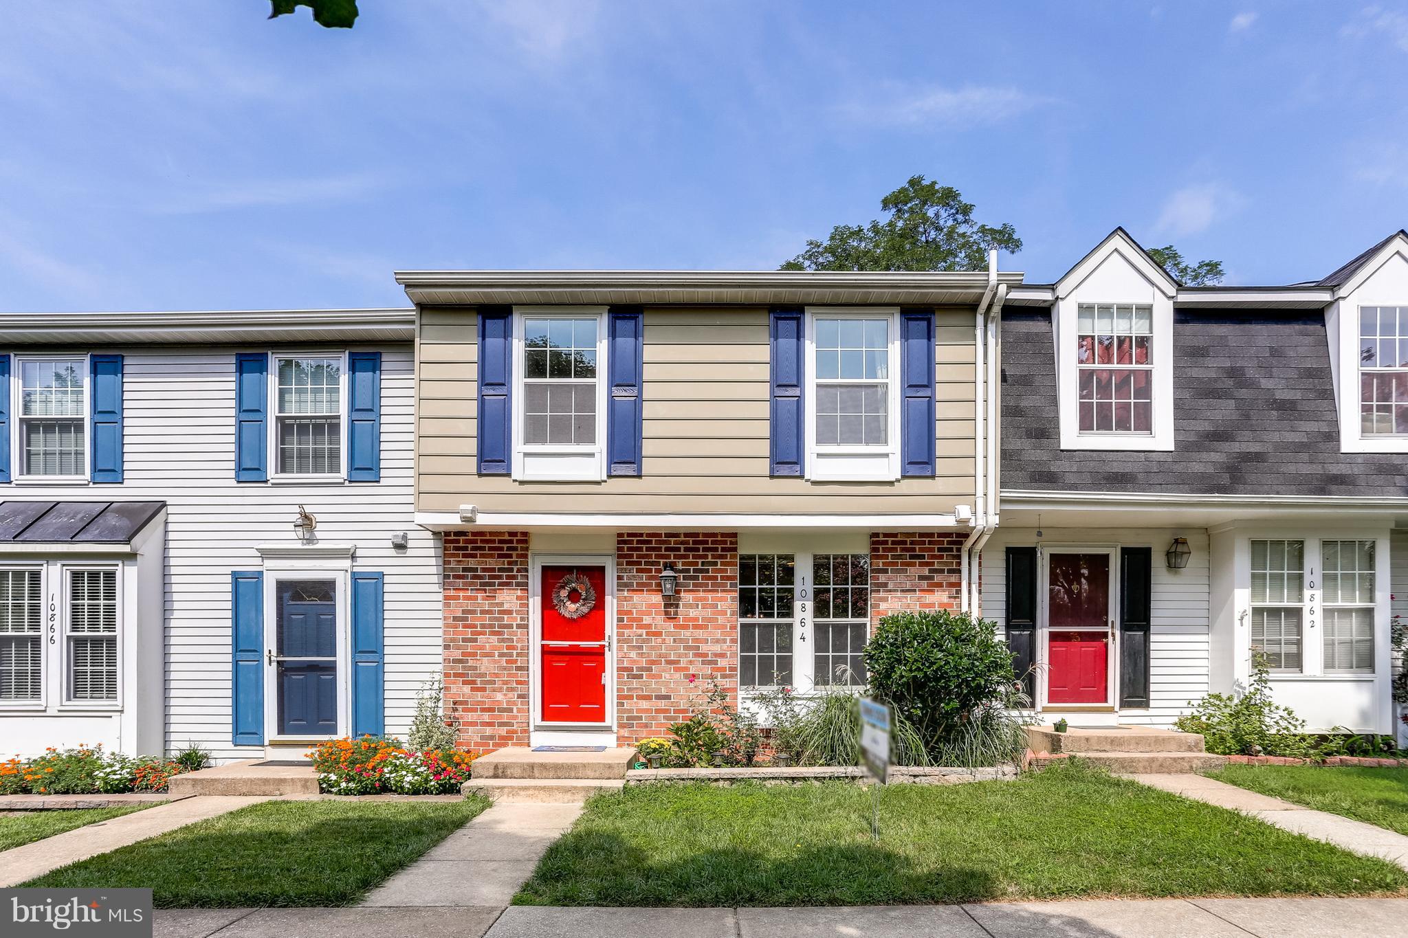
<svg viewBox="0 0 1408 938">
<path fill-rule="evenodd" d="M 597 321 L 597 433 L 590 446 L 524 442 L 524 353 L 528 319 Z M 514 307 L 513 478 L 525 482 L 600 482 L 607 477 L 607 307 Z"/>
</svg>

